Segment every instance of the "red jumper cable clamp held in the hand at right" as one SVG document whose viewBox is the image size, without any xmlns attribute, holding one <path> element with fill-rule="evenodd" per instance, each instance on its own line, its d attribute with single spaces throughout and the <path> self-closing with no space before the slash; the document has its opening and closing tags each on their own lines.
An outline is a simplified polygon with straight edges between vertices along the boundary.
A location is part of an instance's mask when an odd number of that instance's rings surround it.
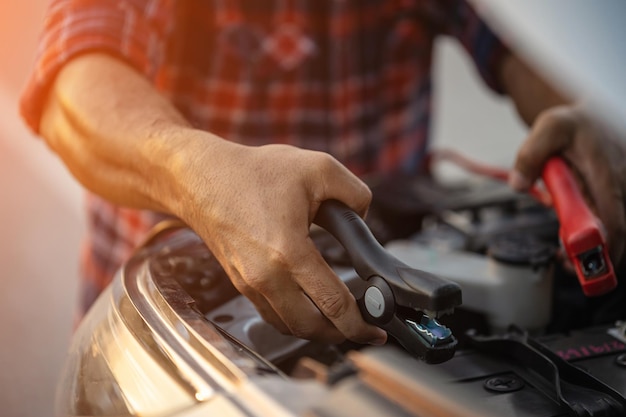
<svg viewBox="0 0 626 417">
<path fill-rule="evenodd" d="M 559 218 L 559 237 L 587 297 L 605 294 L 617 286 L 602 223 L 591 212 L 572 172 L 560 157 L 550 158 L 542 179 Z"/>
</svg>

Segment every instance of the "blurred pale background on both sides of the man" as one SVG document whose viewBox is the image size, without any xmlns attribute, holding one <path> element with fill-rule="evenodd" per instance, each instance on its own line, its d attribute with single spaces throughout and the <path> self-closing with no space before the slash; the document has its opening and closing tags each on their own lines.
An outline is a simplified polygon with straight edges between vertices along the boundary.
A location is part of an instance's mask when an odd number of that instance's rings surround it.
<svg viewBox="0 0 626 417">
<path fill-rule="evenodd" d="M 3 416 L 52 415 L 72 331 L 82 190 L 22 123 L 17 99 L 48 0 L 0 2 L 0 404 Z M 508 166 L 525 128 L 486 90 L 451 40 L 437 46 L 435 146 Z M 461 173 L 449 172 L 450 176 Z"/>
</svg>

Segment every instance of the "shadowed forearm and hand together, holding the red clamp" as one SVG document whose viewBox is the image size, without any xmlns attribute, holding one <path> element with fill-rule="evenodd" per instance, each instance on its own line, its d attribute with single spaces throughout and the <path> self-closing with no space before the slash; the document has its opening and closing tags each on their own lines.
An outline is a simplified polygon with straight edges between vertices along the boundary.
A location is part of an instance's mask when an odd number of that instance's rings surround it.
<svg viewBox="0 0 626 417">
<path fill-rule="evenodd" d="M 613 264 L 624 260 L 626 150 L 616 133 L 572 105 L 571 97 L 552 86 L 519 57 L 500 63 L 500 79 L 520 117 L 531 127 L 519 149 L 509 183 L 526 191 L 541 176 L 545 162 L 562 156 L 579 181 L 589 206 L 606 229 Z"/>
</svg>

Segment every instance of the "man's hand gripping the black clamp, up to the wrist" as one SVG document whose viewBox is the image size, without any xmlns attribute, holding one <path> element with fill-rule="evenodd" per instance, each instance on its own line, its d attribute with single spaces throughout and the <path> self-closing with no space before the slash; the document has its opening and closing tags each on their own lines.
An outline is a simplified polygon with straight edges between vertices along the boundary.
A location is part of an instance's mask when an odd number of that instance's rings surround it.
<svg viewBox="0 0 626 417">
<path fill-rule="evenodd" d="M 369 188 L 328 154 L 226 141 L 219 148 L 217 162 L 201 143 L 183 151 L 180 178 L 189 188 L 182 217 L 235 287 L 284 333 L 383 343 L 386 333 L 363 320 L 309 236 L 322 201 L 338 199 L 364 215 Z M 214 166 L 207 169 L 206 160 Z"/>
</svg>

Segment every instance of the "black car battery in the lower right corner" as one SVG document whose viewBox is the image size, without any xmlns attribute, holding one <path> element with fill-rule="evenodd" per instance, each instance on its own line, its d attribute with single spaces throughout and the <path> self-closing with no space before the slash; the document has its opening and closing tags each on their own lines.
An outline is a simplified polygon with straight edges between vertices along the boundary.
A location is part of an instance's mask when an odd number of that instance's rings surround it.
<svg viewBox="0 0 626 417">
<path fill-rule="evenodd" d="M 500 416 L 626 415 L 626 345 L 606 327 L 534 339 L 512 328 L 470 336 L 474 349 L 445 364 L 473 398 Z"/>
</svg>

